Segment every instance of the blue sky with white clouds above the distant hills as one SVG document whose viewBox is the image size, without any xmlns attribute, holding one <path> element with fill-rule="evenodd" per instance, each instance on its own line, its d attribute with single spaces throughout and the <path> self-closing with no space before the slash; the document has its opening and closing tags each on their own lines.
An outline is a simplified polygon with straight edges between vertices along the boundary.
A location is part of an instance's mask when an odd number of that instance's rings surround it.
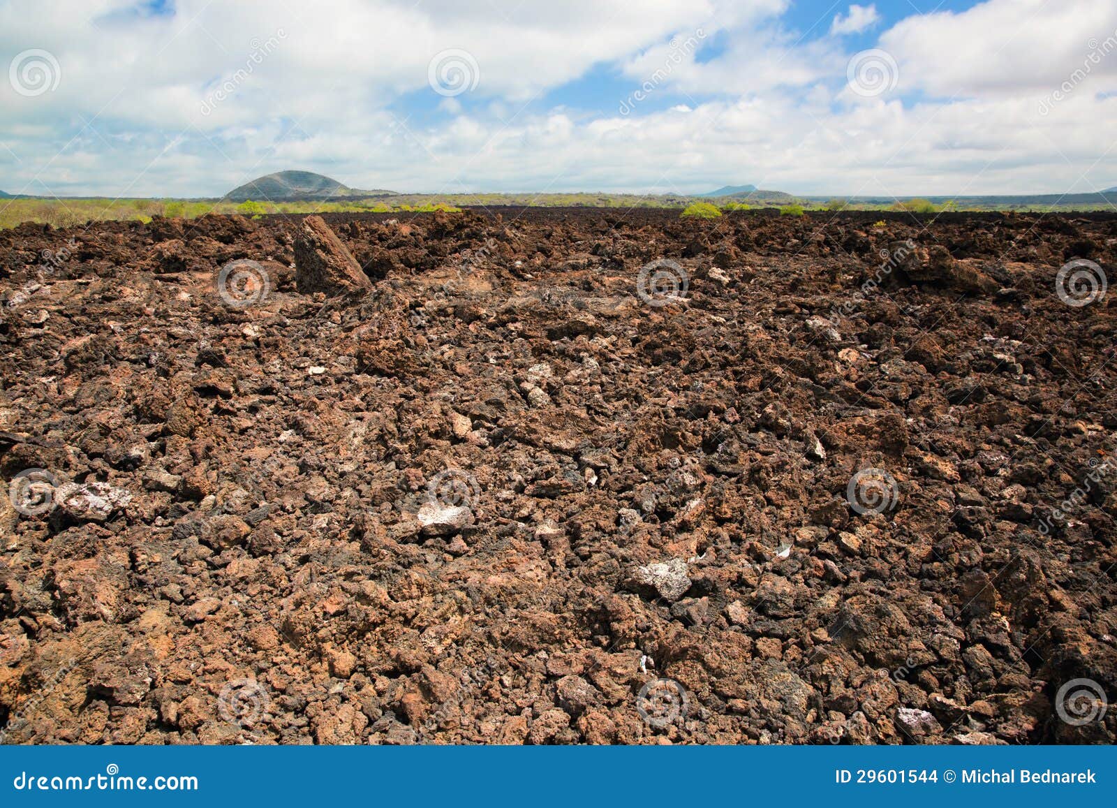
<svg viewBox="0 0 1117 808">
<path fill-rule="evenodd" d="M 0 190 L 1117 184 L 1111 0 L 0 0 Z"/>
</svg>

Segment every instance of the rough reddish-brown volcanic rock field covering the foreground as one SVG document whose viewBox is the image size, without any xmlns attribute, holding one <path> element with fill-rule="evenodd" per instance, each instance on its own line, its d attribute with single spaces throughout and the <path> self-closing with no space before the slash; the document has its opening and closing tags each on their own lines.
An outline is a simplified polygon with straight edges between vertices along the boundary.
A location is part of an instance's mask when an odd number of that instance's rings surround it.
<svg viewBox="0 0 1117 808">
<path fill-rule="evenodd" d="M 1117 740 L 1117 217 L 676 216 L 0 231 L 3 741 Z"/>
</svg>

